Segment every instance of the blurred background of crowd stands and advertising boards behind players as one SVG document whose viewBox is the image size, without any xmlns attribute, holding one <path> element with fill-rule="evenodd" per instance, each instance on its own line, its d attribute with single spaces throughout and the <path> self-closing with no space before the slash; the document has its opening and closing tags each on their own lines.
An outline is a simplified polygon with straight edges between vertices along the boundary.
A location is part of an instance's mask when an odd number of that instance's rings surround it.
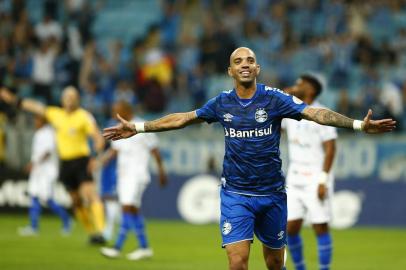
<svg viewBox="0 0 406 270">
<path fill-rule="evenodd" d="M 340 130 L 333 226 L 405 227 L 405 0 L 0 0 L 0 84 L 47 104 L 75 85 L 100 127 L 121 99 L 145 119 L 198 108 L 232 88 L 226 69 L 239 46 L 256 52 L 260 82 L 283 89 L 317 72 L 326 106 L 398 121 L 384 136 Z M 27 114 L 0 110 L 6 212 L 29 204 L 22 168 L 33 126 Z M 217 220 L 223 136 L 206 124 L 160 134 L 170 185 L 150 186 L 146 217 Z M 62 187 L 57 200 L 69 205 Z"/>
</svg>

